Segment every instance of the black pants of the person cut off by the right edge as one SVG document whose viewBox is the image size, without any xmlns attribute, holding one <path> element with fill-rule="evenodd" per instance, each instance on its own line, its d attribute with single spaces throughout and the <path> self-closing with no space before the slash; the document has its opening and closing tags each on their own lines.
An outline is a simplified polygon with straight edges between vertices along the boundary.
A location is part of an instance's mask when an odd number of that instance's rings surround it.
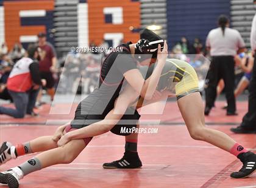
<svg viewBox="0 0 256 188">
<path fill-rule="evenodd" d="M 248 112 L 244 115 L 241 126 L 245 129 L 256 130 L 256 55 L 254 55 L 254 68 L 249 85 Z"/>
</svg>

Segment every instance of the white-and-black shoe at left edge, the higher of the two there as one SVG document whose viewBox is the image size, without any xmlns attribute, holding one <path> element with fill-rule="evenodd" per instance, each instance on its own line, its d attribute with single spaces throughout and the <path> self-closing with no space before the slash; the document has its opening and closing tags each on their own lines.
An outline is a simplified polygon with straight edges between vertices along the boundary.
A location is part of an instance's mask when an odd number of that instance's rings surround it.
<svg viewBox="0 0 256 188">
<path fill-rule="evenodd" d="M 2 146 L 0 147 L 0 165 L 15 158 L 17 158 L 15 155 L 15 146 L 12 146 L 9 142 L 2 143 Z"/>
</svg>

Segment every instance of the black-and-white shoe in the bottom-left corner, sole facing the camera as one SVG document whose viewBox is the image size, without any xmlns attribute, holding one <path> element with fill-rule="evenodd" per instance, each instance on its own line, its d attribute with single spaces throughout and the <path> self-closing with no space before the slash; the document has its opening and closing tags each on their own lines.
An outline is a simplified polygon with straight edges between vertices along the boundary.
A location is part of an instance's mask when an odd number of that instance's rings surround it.
<svg viewBox="0 0 256 188">
<path fill-rule="evenodd" d="M 18 175 L 12 170 L 0 172 L 0 183 L 7 184 L 9 188 L 18 188 L 20 185 Z"/>
</svg>

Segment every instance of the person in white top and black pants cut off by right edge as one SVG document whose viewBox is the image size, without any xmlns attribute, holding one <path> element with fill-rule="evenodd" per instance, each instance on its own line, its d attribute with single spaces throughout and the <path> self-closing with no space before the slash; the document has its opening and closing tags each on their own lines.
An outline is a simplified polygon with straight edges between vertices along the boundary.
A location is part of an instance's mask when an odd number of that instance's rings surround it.
<svg viewBox="0 0 256 188">
<path fill-rule="evenodd" d="M 256 0 L 254 0 L 254 5 L 256 5 Z M 252 21 L 251 48 L 254 54 L 254 67 L 249 85 L 248 112 L 244 115 L 240 126 L 230 129 L 234 133 L 256 133 L 256 14 Z"/>
</svg>

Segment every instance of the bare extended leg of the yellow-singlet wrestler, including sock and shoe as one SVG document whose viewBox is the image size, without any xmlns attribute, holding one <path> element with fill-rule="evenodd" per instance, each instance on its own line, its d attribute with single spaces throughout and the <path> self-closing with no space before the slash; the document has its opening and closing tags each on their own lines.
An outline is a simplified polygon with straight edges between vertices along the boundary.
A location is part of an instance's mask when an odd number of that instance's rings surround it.
<svg viewBox="0 0 256 188">
<path fill-rule="evenodd" d="M 244 178 L 256 170 L 256 155 L 254 153 L 248 152 L 225 133 L 205 127 L 204 109 L 199 92 L 180 98 L 178 106 L 193 139 L 213 144 L 241 160 L 244 165 L 239 172 L 231 174 L 233 178 Z"/>
</svg>

